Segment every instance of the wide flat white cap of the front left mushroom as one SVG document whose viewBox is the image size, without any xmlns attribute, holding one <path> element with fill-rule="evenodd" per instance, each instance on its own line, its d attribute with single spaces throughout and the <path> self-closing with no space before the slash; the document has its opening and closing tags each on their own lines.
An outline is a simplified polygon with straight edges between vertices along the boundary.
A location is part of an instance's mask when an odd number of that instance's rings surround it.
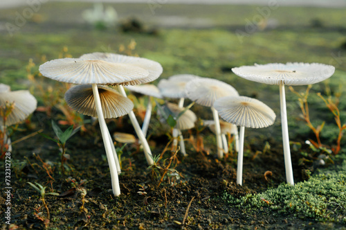
<svg viewBox="0 0 346 230">
<path fill-rule="evenodd" d="M 69 57 L 40 65 L 39 72 L 53 80 L 80 85 L 117 85 L 149 76 L 149 71 L 132 64 Z"/>
</svg>

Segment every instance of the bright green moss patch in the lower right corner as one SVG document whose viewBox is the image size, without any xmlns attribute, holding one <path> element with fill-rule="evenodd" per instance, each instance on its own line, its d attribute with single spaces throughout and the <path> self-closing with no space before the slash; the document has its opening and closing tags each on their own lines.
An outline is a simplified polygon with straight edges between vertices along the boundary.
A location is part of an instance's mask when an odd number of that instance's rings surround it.
<svg viewBox="0 0 346 230">
<path fill-rule="evenodd" d="M 292 213 L 302 219 L 346 223 L 346 162 L 338 172 L 326 171 L 295 186 L 281 184 L 260 194 L 235 198 L 227 193 L 223 199 L 239 209 Z"/>
</svg>

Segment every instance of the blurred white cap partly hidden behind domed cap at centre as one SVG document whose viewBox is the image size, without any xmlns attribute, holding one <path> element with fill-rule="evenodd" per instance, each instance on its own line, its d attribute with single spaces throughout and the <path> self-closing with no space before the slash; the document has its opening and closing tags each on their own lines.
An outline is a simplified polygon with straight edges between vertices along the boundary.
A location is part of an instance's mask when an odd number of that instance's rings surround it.
<svg viewBox="0 0 346 230">
<path fill-rule="evenodd" d="M 191 74 L 178 74 L 158 82 L 158 89 L 167 98 L 187 98 L 185 85 L 190 80 L 201 78 Z"/>
</svg>

